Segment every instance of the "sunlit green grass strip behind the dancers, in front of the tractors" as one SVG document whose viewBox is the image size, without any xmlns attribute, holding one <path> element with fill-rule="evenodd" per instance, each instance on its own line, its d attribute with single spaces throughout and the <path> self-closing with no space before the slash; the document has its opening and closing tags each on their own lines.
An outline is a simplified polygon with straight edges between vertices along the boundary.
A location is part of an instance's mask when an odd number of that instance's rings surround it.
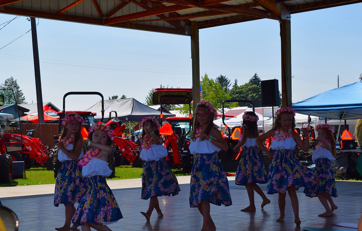
<svg viewBox="0 0 362 231">
<path fill-rule="evenodd" d="M 180 169 L 173 169 L 176 176 L 190 175 Z M 40 185 L 55 184 L 54 173 L 52 170 L 46 170 L 45 167 L 30 168 L 25 170 L 26 179 L 13 179 L 11 183 L 0 184 L 0 187 L 19 186 L 19 185 Z M 134 179 L 142 177 L 142 168 L 133 168 L 132 165 L 121 165 L 115 168 L 115 177 L 107 180 Z"/>
</svg>

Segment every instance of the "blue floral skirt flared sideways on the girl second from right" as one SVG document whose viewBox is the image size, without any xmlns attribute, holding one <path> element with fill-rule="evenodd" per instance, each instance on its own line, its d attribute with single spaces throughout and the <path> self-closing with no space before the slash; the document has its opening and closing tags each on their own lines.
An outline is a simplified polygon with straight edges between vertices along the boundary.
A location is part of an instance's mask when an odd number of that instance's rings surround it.
<svg viewBox="0 0 362 231">
<path fill-rule="evenodd" d="M 296 189 L 302 186 L 309 188 L 313 180 L 313 171 L 299 163 L 293 149 L 273 150 L 266 189 L 268 194 L 285 193 L 292 185 Z"/>
</svg>

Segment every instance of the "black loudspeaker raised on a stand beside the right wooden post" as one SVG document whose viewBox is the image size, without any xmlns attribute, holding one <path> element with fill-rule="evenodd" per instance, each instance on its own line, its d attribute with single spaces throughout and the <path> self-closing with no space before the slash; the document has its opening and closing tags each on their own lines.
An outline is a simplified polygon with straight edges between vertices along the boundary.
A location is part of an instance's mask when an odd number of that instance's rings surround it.
<svg viewBox="0 0 362 231">
<path fill-rule="evenodd" d="M 279 106 L 279 85 L 277 79 L 261 81 L 261 106 Z"/>
</svg>

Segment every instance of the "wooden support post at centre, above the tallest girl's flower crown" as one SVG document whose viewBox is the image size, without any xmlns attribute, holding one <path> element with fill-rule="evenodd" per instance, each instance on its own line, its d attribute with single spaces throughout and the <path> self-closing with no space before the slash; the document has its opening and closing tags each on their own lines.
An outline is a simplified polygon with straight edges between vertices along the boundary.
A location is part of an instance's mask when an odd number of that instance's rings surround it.
<svg viewBox="0 0 362 231">
<path fill-rule="evenodd" d="M 193 114 L 196 104 L 200 102 L 200 53 L 199 53 L 199 29 L 197 22 L 191 22 L 191 59 L 192 59 L 192 100 Z"/>
</svg>

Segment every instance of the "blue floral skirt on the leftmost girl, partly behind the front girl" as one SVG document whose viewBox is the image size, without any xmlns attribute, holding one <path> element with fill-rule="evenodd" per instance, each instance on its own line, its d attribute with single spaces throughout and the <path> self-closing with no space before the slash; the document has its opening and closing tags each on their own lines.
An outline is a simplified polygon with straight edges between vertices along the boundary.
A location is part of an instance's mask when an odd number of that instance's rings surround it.
<svg viewBox="0 0 362 231">
<path fill-rule="evenodd" d="M 82 176 L 79 161 L 66 160 L 58 171 L 55 182 L 54 205 L 79 203 L 87 191 L 87 182 Z"/>
</svg>

